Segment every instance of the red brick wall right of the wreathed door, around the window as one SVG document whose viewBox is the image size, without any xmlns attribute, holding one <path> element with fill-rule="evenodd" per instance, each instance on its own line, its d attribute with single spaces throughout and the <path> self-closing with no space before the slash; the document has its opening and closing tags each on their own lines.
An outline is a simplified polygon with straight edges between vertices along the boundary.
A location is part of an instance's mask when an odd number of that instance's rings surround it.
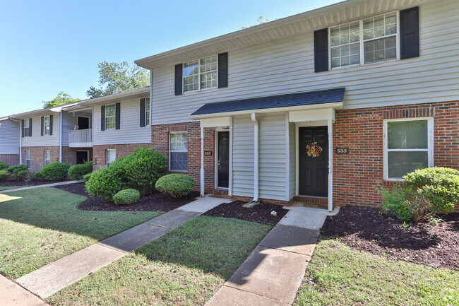
<svg viewBox="0 0 459 306">
<path fill-rule="evenodd" d="M 459 101 L 339 110 L 333 124 L 333 204 L 376 206 L 383 181 L 383 119 L 434 117 L 434 165 L 459 169 Z"/>
</svg>

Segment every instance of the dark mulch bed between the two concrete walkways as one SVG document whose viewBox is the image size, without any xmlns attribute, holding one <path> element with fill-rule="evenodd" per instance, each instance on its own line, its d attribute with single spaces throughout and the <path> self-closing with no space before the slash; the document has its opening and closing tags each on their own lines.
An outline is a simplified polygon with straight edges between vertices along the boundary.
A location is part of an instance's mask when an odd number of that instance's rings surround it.
<svg viewBox="0 0 459 306">
<path fill-rule="evenodd" d="M 205 216 L 236 218 L 240 220 L 252 221 L 257 223 L 275 225 L 288 213 L 287 209 L 283 209 L 280 205 L 261 203 L 252 208 L 244 208 L 244 201 L 232 201 L 231 203 L 223 203 L 219 206 L 210 209 Z M 278 213 L 278 216 L 272 216 L 271 211 Z"/>
</svg>

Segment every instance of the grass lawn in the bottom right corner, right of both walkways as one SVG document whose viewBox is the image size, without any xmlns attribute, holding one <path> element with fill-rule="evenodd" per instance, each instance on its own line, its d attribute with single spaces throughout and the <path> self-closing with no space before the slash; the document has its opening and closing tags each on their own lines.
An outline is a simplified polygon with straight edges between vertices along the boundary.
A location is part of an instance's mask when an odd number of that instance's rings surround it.
<svg viewBox="0 0 459 306">
<path fill-rule="evenodd" d="M 458 306 L 458 288 L 458 271 L 393 261 L 321 237 L 294 305 Z"/>
</svg>

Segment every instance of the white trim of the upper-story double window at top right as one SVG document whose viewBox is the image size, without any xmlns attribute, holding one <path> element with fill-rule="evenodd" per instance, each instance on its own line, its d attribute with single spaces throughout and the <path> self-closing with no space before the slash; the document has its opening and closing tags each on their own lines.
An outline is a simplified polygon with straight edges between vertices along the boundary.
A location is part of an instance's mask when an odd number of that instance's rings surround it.
<svg viewBox="0 0 459 306">
<path fill-rule="evenodd" d="M 395 13 L 395 16 L 397 18 L 397 33 L 395 34 L 395 47 L 396 47 L 396 57 L 395 59 L 387 59 L 385 61 L 373 61 L 371 63 L 365 64 L 365 54 L 364 54 L 364 19 L 369 19 L 369 18 L 376 18 L 378 16 L 384 16 L 388 15 L 390 13 Z M 348 23 L 352 23 L 354 21 L 350 21 Z M 340 23 L 339 25 L 345 25 L 347 23 Z M 374 65 L 374 64 L 380 64 L 380 63 L 386 63 L 388 61 L 398 61 L 400 60 L 400 11 L 395 11 L 395 12 L 388 12 L 388 13 L 383 13 L 383 14 L 378 14 L 375 16 L 369 16 L 366 18 L 363 18 L 359 20 L 359 44 L 360 44 L 360 64 L 352 64 L 352 65 L 347 65 L 347 66 L 339 66 L 339 67 L 332 67 L 331 66 L 331 43 L 330 43 L 330 28 L 334 28 L 335 26 L 338 25 L 333 25 L 331 27 L 328 27 L 328 70 L 338 70 L 338 69 L 347 69 L 350 67 L 357 67 L 357 66 L 368 66 L 368 65 Z M 388 35 L 388 36 L 383 36 L 383 37 L 378 37 L 378 38 L 372 38 L 371 40 L 378 40 L 381 38 L 385 37 L 390 37 L 393 35 Z M 365 40 L 365 41 L 371 41 L 371 40 Z M 357 42 L 353 42 L 354 44 Z M 345 44 L 345 45 L 352 45 L 352 44 Z M 338 46 L 336 46 L 338 47 Z"/>
</svg>

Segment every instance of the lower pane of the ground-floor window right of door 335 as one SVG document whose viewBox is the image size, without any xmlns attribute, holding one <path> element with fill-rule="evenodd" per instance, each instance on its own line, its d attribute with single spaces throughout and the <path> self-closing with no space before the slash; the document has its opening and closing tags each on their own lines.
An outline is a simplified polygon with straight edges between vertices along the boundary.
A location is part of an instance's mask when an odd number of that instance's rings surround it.
<svg viewBox="0 0 459 306">
<path fill-rule="evenodd" d="M 409 172 L 427 166 L 427 151 L 388 152 L 388 177 L 401 178 Z"/>
</svg>

